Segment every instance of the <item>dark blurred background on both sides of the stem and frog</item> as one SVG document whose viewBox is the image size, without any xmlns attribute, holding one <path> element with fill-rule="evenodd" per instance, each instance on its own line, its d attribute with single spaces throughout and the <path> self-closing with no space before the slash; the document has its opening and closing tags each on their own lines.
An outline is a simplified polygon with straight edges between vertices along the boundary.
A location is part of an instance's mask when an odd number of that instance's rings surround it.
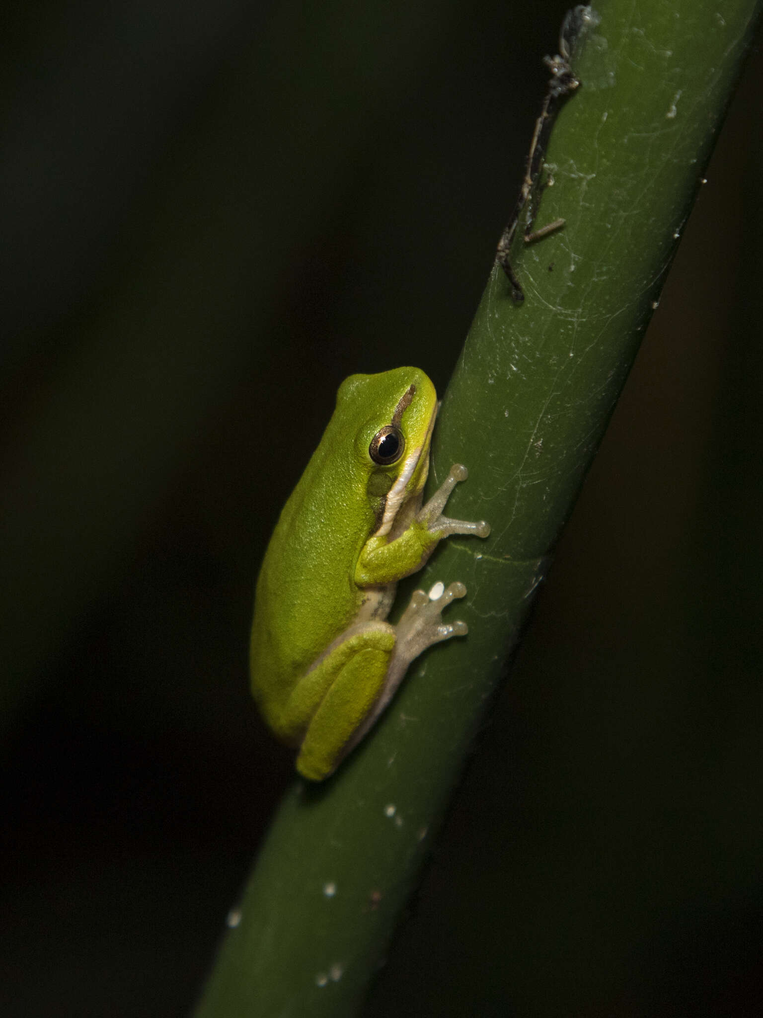
<svg viewBox="0 0 763 1018">
<path fill-rule="evenodd" d="M 7 7 L 4 1016 L 191 1006 L 265 543 L 344 376 L 446 384 L 565 8 Z M 371 1013 L 760 1013 L 760 71 Z"/>
</svg>

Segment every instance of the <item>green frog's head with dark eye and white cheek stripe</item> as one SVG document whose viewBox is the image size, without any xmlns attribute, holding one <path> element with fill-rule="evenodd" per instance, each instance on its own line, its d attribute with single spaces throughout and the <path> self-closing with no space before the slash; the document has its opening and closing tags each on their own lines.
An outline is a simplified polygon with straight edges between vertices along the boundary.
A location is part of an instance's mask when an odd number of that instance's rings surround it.
<svg viewBox="0 0 763 1018">
<path fill-rule="evenodd" d="M 356 468 L 374 506 L 375 533 L 388 534 L 400 522 L 401 507 L 413 504 L 426 482 L 437 415 L 434 386 L 418 367 L 352 375 L 340 387 L 337 409 L 355 415 Z"/>
</svg>

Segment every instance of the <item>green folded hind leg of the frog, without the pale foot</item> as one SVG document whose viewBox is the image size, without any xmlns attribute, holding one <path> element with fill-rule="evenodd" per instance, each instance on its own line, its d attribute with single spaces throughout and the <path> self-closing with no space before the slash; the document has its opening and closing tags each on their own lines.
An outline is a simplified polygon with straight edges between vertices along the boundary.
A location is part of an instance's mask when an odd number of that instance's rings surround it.
<svg viewBox="0 0 763 1018">
<path fill-rule="evenodd" d="M 336 769 L 385 687 L 394 647 L 395 630 L 386 625 L 356 633 L 334 652 L 344 662 L 307 727 L 297 757 L 297 771 L 305 778 L 322 781 Z"/>
</svg>

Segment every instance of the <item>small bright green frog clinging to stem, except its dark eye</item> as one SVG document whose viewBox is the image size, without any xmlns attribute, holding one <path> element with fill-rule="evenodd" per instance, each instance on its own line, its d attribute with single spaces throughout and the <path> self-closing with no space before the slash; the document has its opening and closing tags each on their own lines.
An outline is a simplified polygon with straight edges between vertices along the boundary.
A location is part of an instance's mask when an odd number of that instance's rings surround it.
<svg viewBox="0 0 763 1018">
<path fill-rule="evenodd" d="M 252 690 L 275 733 L 300 747 L 297 770 L 312 781 L 359 742 L 414 658 L 466 633 L 463 622 L 441 618 L 466 592 L 462 583 L 437 601 L 417 590 L 397 626 L 385 621 L 397 581 L 420 569 L 437 542 L 489 533 L 484 522 L 441 515 L 466 477 L 463 466 L 421 507 L 436 412 L 434 387 L 416 367 L 346 379 L 268 546 L 254 601 Z M 402 433 L 394 462 L 372 458 L 383 429 L 393 437 L 382 453 L 394 454 Z"/>
</svg>

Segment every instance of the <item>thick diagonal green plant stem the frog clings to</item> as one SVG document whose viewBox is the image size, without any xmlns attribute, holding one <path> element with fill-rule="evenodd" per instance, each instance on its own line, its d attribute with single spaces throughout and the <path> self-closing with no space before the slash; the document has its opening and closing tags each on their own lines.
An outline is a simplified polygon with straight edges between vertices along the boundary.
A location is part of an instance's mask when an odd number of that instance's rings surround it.
<svg viewBox="0 0 763 1018">
<path fill-rule="evenodd" d="M 597 6 L 536 223 L 567 225 L 517 252 L 522 305 L 491 273 L 435 434 L 431 484 L 466 463 L 449 512 L 492 533 L 444 543 L 413 579 L 466 583 L 469 636 L 420 659 L 331 781 L 294 783 L 197 1018 L 356 1013 L 659 299 L 759 7 Z"/>
</svg>

